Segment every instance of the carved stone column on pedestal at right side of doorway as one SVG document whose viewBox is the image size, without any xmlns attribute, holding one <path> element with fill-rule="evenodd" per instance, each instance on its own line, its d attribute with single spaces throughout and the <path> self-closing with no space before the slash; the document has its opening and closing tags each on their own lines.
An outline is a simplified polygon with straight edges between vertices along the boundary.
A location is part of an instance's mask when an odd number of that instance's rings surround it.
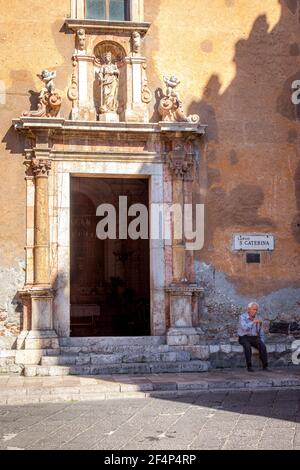
<svg viewBox="0 0 300 470">
<path fill-rule="evenodd" d="M 191 144 L 180 139 L 172 142 L 168 164 L 173 174 L 173 204 L 181 208 L 182 236 L 173 232 L 173 282 L 166 289 L 170 295 L 171 328 L 167 334 L 171 346 L 199 344 L 202 330 L 195 319 L 198 298 L 203 289 L 195 284 L 193 253 L 187 251 L 184 233 L 185 204 L 192 204 L 194 158 Z"/>
</svg>

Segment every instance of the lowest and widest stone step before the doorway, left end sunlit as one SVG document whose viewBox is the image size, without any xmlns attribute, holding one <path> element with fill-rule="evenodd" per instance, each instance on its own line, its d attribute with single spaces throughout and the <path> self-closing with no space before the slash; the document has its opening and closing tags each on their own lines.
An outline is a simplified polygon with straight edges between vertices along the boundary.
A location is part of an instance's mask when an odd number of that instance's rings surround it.
<svg viewBox="0 0 300 470">
<path fill-rule="evenodd" d="M 153 362 L 153 363 L 122 363 L 83 366 L 26 366 L 25 377 L 48 377 L 66 375 L 113 375 L 113 374 L 160 374 L 182 372 L 207 372 L 210 364 L 205 361 L 189 362 Z"/>
</svg>

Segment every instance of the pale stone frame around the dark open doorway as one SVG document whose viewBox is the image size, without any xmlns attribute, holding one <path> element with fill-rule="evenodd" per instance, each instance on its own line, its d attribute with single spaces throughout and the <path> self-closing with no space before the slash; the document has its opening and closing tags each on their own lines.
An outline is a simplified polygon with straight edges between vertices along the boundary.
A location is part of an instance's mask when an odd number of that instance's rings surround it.
<svg viewBox="0 0 300 470">
<path fill-rule="evenodd" d="M 54 163 L 50 181 L 50 243 L 54 329 L 58 336 L 70 336 L 70 181 L 71 177 L 149 179 L 149 208 L 164 203 L 164 168 L 158 163 L 128 163 L 113 161 Z M 51 187 L 52 186 L 52 187 Z M 151 335 L 166 334 L 165 244 L 150 240 Z"/>
</svg>

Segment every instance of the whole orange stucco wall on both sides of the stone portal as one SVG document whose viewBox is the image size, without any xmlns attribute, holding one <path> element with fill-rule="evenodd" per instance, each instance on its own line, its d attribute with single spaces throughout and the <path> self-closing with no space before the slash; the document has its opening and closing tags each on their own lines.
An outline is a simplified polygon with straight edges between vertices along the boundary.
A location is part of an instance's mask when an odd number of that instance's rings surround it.
<svg viewBox="0 0 300 470">
<path fill-rule="evenodd" d="M 56 69 L 66 92 L 74 49 L 63 30 L 69 3 L 0 0 L 0 335 L 15 334 L 13 299 L 24 277 L 23 142 L 11 119 L 34 100 L 43 68 Z M 299 2 L 146 0 L 145 10 L 150 88 L 162 86 L 163 74 L 177 75 L 187 111 L 209 126 L 195 186 L 206 207 L 196 268 L 206 288 L 207 335 L 231 336 L 250 299 L 262 302 L 267 318 L 300 318 L 300 128 L 291 103 L 291 83 L 300 79 Z M 66 99 L 66 117 L 70 106 Z M 150 115 L 158 119 L 155 98 Z M 240 232 L 272 233 L 274 253 L 246 264 L 231 251 Z"/>
</svg>

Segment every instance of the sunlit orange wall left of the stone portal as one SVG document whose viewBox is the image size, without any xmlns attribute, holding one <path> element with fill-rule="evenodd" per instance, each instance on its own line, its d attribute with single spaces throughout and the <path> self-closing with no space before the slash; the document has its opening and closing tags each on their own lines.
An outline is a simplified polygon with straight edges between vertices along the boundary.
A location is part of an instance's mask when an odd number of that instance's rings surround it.
<svg viewBox="0 0 300 470">
<path fill-rule="evenodd" d="M 69 14 L 69 0 L 0 0 L 0 336 L 18 330 L 21 309 L 15 296 L 24 285 L 25 267 L 24 142 L 12 119 L 30 109 L 44 68 L 57 70 L 57 87 L 67 89 L 74 44 L 72 35 L 60 31 Z M 68 108 L 65 103 L 66 116 Z"/>
</svg>

